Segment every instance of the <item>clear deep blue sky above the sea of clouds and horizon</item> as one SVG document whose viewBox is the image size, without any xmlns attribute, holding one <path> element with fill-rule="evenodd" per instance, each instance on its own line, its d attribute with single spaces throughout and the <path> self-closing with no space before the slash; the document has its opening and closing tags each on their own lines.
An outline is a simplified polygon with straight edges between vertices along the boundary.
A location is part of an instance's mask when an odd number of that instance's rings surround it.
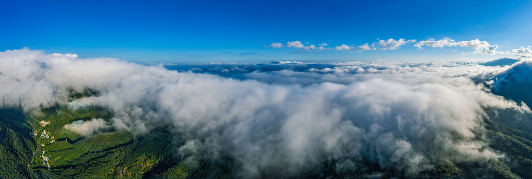
<svg viewBox="0 0 532 179">
<path fill-rule="evenodd" d="M 530 10 L 526 1 L 2 1 L 0 50 L 139 63 L 485 60 L 532 45 Z M 446 37 L 454 41 L 441 48 L 413 46 Z M 415 42 L 379 46 L 390 38 Z M 489 45 L 459 43 L 475 39 Z M 288 47 L 296 41 L 303 47 Z"/>
</svg>

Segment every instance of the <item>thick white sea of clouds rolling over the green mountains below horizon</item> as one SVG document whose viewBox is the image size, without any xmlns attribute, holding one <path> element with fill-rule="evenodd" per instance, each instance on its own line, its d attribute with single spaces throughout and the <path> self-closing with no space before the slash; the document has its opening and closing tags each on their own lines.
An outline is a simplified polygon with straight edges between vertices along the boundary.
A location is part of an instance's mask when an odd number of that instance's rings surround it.
<svg viewBox="0 0 532 179">
<path fill-rule="evenodd" d="M 338 171 L 372 163 L 415 174 L 442 156 L 503 158 L 483 139 L 485 121 L 529 124 L 531 70 L 513 58 L 164 66 L 20 49 L 0 53 L 0 105 L 112 110 L 110 119 L 65 126 L 82 135 L 169 126 L 176 155 L 190 164 L 230 156 L 240 177 L 295 175 L 328 160 Z M 68 100 L 86 89 L 99 94 Z"/>
</svg>

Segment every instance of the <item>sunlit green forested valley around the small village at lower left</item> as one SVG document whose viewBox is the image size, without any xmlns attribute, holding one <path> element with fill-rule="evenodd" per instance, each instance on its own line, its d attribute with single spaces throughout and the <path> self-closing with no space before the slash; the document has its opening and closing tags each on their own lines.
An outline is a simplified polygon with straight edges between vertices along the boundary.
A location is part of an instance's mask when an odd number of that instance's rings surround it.
<svg viewBox="0 0 532 179">
<path fill-rule="evenodd" d="M 24 116 L 16 109 L 0 110 L 0 178 L 141 178 L 155 169 L 165 174 L 152 172 L 149 175 L 188 176 L 190 169 L 175 162 L 176 166 L 166 171 L 156 168 L 161 167 L 159 163 L 163 159 L 177 161 L 170 146 L 172 136 L 166 129 L 143 136 L 126 131 L 107 131 L 83 137 L 63 127 L 73 121 L 109 116 L 98 108 L 71 112 L 64 107 L 52 106 L 35 116 Z M 49 124 L 41 125 L 41 121 L 49 121 Z M 44 131 L 48 137 L 42 135 Z M 43 157 L 49 158 L 50 168 Z"/>
</svg>

